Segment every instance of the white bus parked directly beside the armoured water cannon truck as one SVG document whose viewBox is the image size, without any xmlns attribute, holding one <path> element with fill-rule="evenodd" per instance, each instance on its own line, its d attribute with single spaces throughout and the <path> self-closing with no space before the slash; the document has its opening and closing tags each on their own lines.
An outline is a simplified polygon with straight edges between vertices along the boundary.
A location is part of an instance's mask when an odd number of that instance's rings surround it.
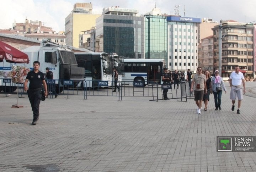
<svg viewBox="0 0 256 172">
<path fill-rule="evenodd" d="M 85 82 L 80 87 L 98 87 L 98 81 L 108 81 L 107 85 L 112 86 L 113 58 L 105 52 L 75 52 L 76 61 L 79 67 L 85 69 Z M 96 82 L 94 82 L 96 81 Z"/>
</svg>

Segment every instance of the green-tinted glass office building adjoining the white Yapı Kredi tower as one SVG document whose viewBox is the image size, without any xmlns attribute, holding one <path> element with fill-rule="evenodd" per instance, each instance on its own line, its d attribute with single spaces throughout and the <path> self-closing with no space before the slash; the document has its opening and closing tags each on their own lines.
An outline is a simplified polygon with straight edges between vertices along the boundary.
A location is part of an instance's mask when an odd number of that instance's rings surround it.
<svg viewBox="0 0 256 172">
<path fill-rule="evenodd" d="M 165 16 L 145 15 L 145 59 L 167 62 L 167 21 Z"/>
</svg>

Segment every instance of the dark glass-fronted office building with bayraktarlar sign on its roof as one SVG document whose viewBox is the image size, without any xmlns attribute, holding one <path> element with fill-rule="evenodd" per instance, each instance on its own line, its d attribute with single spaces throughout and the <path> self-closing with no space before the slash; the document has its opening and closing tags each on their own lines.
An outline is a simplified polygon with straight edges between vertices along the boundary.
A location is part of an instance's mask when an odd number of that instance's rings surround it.
<svg viewBox="0 0 256 172">
<path fill-rule="evenodd" d="M 96 39 L 103 38 L 103 51 L 129 58 L 144 58 L 144 17 L 138 10 L 109 7 L 96 19 Z"/>
</svg>

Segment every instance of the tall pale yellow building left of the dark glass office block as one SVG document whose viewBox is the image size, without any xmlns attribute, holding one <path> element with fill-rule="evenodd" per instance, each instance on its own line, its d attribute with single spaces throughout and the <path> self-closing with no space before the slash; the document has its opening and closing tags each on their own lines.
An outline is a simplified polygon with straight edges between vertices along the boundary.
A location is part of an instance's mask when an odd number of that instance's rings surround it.
<svg viewBox="0 0 256 172">
<path fill-rule="evenodd" d="M 76 48 L 82 47 L 86 40 L 81 41 L 81 34 L 84 30 L 90 30 L 96 26 L 96 18 L 101 14 L 92 14 L 91 3 L 76 3 L 74 9 L 65 18 L 65 41 L 67 45 Z"/>
</svg>

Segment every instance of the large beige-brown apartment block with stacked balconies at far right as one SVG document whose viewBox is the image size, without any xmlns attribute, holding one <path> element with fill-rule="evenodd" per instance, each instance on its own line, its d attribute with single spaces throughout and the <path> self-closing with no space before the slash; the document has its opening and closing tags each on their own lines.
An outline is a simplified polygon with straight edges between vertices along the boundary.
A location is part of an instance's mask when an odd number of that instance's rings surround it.
<svg viewBox="0 0 256 172">
<path fill-rule="evenodd" d="M 229 77 L 234 66 L 239 65 L 246 79 L 254 78 L 253 24 L 221 21 L 222 77 Z M 212 28 L 214 38 L 214 70 L 219 69 L 219 25 Z"/>
</svg>

